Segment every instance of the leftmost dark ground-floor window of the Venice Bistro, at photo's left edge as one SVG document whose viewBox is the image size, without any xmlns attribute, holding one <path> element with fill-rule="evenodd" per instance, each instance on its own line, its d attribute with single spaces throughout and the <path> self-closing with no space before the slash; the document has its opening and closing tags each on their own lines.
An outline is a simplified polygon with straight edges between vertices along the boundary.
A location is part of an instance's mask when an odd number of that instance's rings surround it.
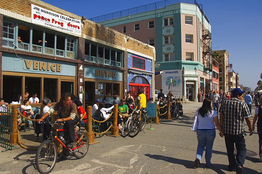
<svg viewBox="0 0 262 174">
<path fill-rule="evenodd" d="M 4 102 L 18 102 L 22 95 L 22 77 L 3 76 L 2 90 Z"/>
</svg>

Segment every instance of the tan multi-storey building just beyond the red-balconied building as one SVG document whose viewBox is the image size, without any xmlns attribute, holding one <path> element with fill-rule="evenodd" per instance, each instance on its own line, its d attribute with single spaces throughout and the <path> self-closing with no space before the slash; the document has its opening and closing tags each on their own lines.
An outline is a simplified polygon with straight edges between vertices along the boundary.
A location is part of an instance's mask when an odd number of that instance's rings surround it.
<svg viewBox="0 0 262 174">
<path fill-rule="evenodd" d="M 214 53 L 215 51 L 212 51 Z M 224 57 L 223 59 L 223 66 L 219 67 L 219 90 L 222 89 L 223 91 L 230 91 L 228 89 L 229 86 L 229 73 L 228 69 L 230 68 L 228 63 L 228 52 L 227 50 L 216 50 L 216 52 L 219 52 L 220 55 Z M 232 85 L 231 85 L 232 86 Z"/>
</svg>

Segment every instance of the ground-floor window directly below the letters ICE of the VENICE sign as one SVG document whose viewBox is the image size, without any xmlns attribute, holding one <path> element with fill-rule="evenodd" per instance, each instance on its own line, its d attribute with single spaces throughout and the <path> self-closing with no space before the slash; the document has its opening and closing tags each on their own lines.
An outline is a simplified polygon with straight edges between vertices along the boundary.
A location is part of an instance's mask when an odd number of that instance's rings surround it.
<svg viewBox="0 0 262 174">
<path fill-rule="evenodd" d="M 57 79 L 44 78 L 44 97 L 49 98 L 52 102 L 57 101 Z"/>
</svg>

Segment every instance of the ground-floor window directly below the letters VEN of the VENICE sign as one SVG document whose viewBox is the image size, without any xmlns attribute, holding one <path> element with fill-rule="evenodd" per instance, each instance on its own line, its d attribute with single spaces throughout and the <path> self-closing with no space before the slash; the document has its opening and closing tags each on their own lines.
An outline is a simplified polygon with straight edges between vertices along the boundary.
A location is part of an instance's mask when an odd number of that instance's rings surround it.
<svg viewBox="0 0 262 174">
<path fill-rule="evenodd" d="M 41 99 L 41 78 L 25 77 L 25 92 L 29 93 L 28 99 L 35 92 L 36 97 Z"/>
</svg>

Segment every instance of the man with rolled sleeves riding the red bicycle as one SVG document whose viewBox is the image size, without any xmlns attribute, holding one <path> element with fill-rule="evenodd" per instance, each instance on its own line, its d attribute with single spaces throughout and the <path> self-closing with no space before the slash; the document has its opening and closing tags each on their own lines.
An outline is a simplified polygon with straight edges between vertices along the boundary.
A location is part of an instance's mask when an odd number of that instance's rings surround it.
<svg viewBox="0 0 262 174">
<path fill-rule="evenodd" d="M 71 93 L 65 92 L 61 95 L 61 99 L 57 102 L 53 108 L 49 109 L 37 122 L 43 121 L 43 119 L 47 118 L 49 115 L 52 115 L 56 111 L 60 110 L 61 119 L 57 119 L 57 121 L 65 121 L 64 128 L 67 131 L 64 131 L 64 139 L 67 142 L 65 145 L 68 148 L 73 147 L 75 143 L 75 129 L 74 125 L 78 123 L 78 115 L 77 115 L 77 105 L 71 101 Z M 65 153 L 66 150 L 63 149 L 62 157 L 59 160 L 65 160 L 68 156 Z"/>
</svg>

